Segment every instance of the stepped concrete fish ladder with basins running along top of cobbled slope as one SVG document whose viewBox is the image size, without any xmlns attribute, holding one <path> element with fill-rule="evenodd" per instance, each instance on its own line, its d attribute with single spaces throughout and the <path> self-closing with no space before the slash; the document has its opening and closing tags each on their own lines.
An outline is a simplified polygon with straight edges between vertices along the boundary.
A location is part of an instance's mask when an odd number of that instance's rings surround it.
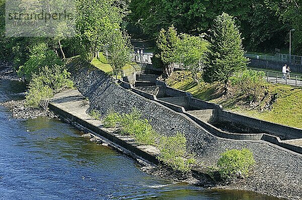
<svg viewBox="0 0 302 200">
<path fill-rule="evenodd" d="M 223 110 L 217 104 L 196 99 L 188 92 L 168 87 L 165 82 L 155 79 L 152 77 L 150 80 L 154 85 L 139 87 L 133 87 L 137 84 L 127 83 L 128 80 L 118 82 L 140 96 L 187 115 L 215 136 L 234 140 L 263 140 L 302 154 L 302 129 Z"/>
</svg>

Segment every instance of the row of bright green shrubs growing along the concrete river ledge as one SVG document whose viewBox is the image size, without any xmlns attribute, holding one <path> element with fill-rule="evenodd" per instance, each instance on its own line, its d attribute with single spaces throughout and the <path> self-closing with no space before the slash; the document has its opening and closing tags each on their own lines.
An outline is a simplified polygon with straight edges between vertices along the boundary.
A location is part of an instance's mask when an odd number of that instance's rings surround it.
<svg viewBox="0 0 302 200">
<path fill-rule="evenodd" d="M 158 134 L 141 112 L 133 109 L 129 114 L 110 111 L 103 119 L 104 127 L 117 127 L 122 135 L 133 136 L 140 145 L 152 145 L 160 150 L 159 160 L 175 170 L 190 171 L 196 163 L 192 154 L 187 154 L 187 140 L 183 133 L 167 137 Z"/>
</svg>

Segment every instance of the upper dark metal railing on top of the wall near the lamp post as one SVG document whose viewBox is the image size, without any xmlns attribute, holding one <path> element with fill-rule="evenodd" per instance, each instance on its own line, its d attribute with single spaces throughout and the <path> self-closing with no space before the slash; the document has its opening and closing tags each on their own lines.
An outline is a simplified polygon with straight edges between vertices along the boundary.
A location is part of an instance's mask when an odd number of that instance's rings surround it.
<svg viewBox="0 0 302 200">
<path fill-rule="evenodd" d="M 274 56 L 245 54 L 245 56 L 253 59 L 278 61 L 282 63 L 289 63 L 290 60 L 291 64 L 302 65 L 302 56 L 291 55 L 290 59 L 288 54 L 275 54 Z"/>
</svg>

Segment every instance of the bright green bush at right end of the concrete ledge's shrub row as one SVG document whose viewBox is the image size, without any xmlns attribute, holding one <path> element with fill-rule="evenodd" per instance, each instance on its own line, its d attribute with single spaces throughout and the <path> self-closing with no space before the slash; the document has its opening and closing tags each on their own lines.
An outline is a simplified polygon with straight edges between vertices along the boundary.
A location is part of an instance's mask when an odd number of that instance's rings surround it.
<svg viewBox="0 0 302 200">
<path fill-rule="evenodd" d="M 190 171 L 191 165 L 196 161 L 192 155 L 186 154 L 186 142 L 186 137 L 182 133 L 177 133 L 172 137 L 161 137 L 158 145 L 160 149 L 159 160 L 175 170 Z M 186 159 L 185 157 L 189 158 Z"/>
</svg>

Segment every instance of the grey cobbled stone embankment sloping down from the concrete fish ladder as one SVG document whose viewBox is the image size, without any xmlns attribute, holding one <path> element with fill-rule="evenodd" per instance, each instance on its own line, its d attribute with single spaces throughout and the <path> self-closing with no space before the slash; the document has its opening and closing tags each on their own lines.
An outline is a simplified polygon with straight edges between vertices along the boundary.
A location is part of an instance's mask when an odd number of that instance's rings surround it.
<svg viewBox="0 0 302 200">
<path fill-rule="evenodd" d="M 164 136 L 184 134 L 187 151 L 195 154 L 202 166 L 215 166 L 226 149 L 247 148 L 253 152 L 255 167 L 250 177 L 230 181 L 223 188 L 245 189 L 288 199 L 300 199 L 302 190 L 302 157 L 262 141 L 237 141 L 217 138 L 185 115 L 176 113 L 156 102 L 147 100 L 112 82 L 101 70 L 85 61 L 76 59 L 68 66 L 79 91 L 89 99 L 90 110 L 97 110 L 105 117 L 110 110 L 129 114 L 139 110 L 142 118 Z"/>
</svg>

